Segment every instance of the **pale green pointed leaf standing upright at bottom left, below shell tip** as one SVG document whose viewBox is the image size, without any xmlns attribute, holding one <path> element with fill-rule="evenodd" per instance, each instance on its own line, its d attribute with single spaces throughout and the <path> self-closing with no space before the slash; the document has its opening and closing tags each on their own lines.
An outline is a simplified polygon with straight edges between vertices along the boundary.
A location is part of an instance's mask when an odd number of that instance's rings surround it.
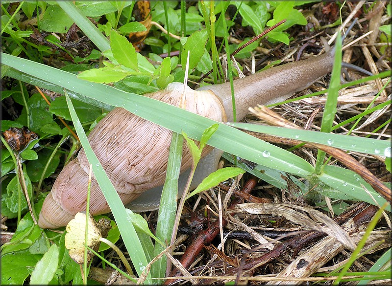
<svg viewBox="0 0 392 286">
<path fill-rule="evenodd" d="M 48 252 L 35 265 L 35 269 L 31 273 L 30 285 L 48 285 L 54 277 L 54 272 L 57 270 L 58 259 L 58 247 L 53 243 Z"/>
</svg>

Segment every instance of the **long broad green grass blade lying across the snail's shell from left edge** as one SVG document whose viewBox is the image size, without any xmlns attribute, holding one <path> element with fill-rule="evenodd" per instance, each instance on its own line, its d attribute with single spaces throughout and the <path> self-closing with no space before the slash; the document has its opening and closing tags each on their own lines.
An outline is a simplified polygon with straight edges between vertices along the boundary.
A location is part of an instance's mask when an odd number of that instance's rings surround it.
<svg viewBox="0 0 392 286">
<path fill-rule="evenodd" d="M 184 131 L 190 138 L 197 141 L 200 140 L 200 136 L 206 128 L 217 123 L 209 118 L 179 109 L 159 100 L 127 93 L 103 84 L 88 83 L 78 79 L 74 74 L 50 66 L 4 53 L 2 53 L 2 61 L 7 66 L 12 66 L 16 70 L 23 70 L 24 73 L 38 77 L 46 82 L 59 85 L 112 106 L 122 107 L 171 131 Z M 157 116 L 157 110 L 159 110 L 159 116 Z M 208 142 L 210 146 L 290 174 L 309 176 L 313 173 L 313 167 L 297 155 L 229 127 L 226 124 L 218 124 L 218 131 Z"/>
</svg>

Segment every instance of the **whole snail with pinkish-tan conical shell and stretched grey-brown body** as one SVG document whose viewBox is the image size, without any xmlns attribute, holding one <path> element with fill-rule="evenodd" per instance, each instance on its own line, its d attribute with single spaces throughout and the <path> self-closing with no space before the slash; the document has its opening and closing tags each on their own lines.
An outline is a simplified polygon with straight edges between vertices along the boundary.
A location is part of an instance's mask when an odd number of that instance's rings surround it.
<svg viewBox="0 0 392 286">
<path fill-rule="evenodd" d="M 271 104 L 287 99 L 309 87 L 332 70 L 334 49 L 303 61 L 276 66 L 234 81 L 237 119 L 245 117 L 256 104 Z M 146 96 L 179 106 L 183 84 Z M 185 89 L 185 108 L 213 120 L 233 121 L 230 83 Z M 124 204 L 134 211 L 158 208 L 172 132 L 142 119 L 123 108 L 110 111 L 89 135 L 90 144 Z M 203 150 L 194 176 L 196 187 L 215 171 L 222 151 L 208 146 Z M 184 147 L 179 190 L 185 185 L 192 159 Z M 64 167 L 46 197 L 38 224 L 42 228 L 65 226 L 74 215 L 86 209 L 89 163 L 82 149 Z M 139 198 L 138 198 L 139 197 Z M 90 212 L 110 212 L 95 178 L 91 183 Z"/>
</svg>

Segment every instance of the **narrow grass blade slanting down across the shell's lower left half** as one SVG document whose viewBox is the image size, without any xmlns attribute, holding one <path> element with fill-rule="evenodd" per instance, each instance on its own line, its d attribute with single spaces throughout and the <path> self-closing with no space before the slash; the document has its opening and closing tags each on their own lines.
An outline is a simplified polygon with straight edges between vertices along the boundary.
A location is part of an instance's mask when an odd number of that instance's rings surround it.
<svg viewBox="0 0 392 286">
<path fill-rule="evenodd" d="M 87 140 L 86 133 L 84 132 L 79 118 L 76 115 L 76 111 L 73 108 L 70 97 L 67 95 L 67 93 L 65 94 L 65 96 L 67 99 L 68 109 L 70 110 L 71 117 L 73 120 L 73 125 L 80 139 L 80 143 L 82 144 L 83 149 L 86 153 L 87 159 L 93 167 L 94 176 L 96 177 L 98 185 L 101 188 L 102 193 L 109 204 L 110 210 L 113 213 L 113 216 L 119 227 L 121 236 L 123 238 L 125 247 L 129 253 L 129 256 L 131 257 L 132 263 L 135 266 L 135 269 L 138 274 L 141 275 L 144 269 L 141 269 L 140 266 L 146 266 L 148 264 L 147 258 L 142 248 L 142 244 L 139 241 L 139 238 L 132 223 L 126 219 L 127 214 L 123 202 L 121 201 L 119 195 L 116 192 L 116 189 L 114 188 L 109 177 L 103 170 L 102 165 L 99 163 L 96 154 L 94 154 L 93 149 L 91 148 Z M 152 281 L 150 274 L 148 274 L 146 282 L 151 284 Z"/>
</svg>

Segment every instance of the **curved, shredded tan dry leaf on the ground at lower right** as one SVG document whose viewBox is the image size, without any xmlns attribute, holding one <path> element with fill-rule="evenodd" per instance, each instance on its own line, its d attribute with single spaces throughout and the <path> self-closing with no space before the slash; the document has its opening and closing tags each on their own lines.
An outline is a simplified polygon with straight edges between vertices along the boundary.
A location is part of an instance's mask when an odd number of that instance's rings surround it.
<svg viewBox="0 0 392 286">
<path fill-rule="evenodd" d="M 243 203 L 236 205 L 235 212 L 247 212 L 255 215 L 271 214 L 281 216 L 295 224 L 301 225 L 305 229 L 325 232 L 342 243 L 347 249 L 354 250 L 356 248 L 355 243 L 351 240 L 348 233 L 343 230 L 339 224 L 327 215 L 310 207 L 291 204 Z M 302 212 L 309 214 L 311 218 Z"/>
</svg>

